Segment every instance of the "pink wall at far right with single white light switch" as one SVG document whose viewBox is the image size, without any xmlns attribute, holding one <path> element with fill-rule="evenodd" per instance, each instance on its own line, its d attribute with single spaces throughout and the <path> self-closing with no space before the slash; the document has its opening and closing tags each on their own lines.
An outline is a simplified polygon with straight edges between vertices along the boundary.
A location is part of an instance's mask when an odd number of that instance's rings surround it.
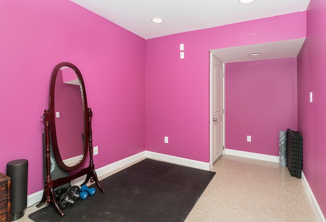
<svg viewBox="0 0 326 222">
<path fill-rule="evenodd" d="M 303 171 L 326 216 L 326 1 L 311 0 L 307 39 L 298 55 L 298 131 L 304 140 Z M 309 92 L 313 102 L 309 102 Z"/>
</svg>

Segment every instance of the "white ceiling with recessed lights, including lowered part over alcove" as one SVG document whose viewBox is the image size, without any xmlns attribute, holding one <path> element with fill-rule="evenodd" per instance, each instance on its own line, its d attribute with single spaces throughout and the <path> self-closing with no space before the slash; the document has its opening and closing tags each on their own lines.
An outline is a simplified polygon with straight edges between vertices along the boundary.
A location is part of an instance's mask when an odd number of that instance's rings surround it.
<svg viewBox="0 0 326 222">
<path fill-rule="evenodd" d="M 276 15 L 305 11 L 310 0 L 256 0 L 253 4 L 241 5 L 238 0 L 70 0 L 144 38 L 152 39 L 171 34 L 183 33 L 210 27 L 216 27 L 241 21 L 266 18 Z M 154 24 L 152 17 L 161 17 L 164 22 Z M 283 42 L 283 41 L 282 41 Z M 255 49 L 232 47 L 223 50 L 225 57 L 230 51 L 245 50 L 246 56 L 252 51 L 284 51 L 284 43 L 258 44 Z M 280 43 L 277 44 L 277 43 Z M 288 42 L 289 43 L 289 42 Z M 294 42 L 287 50 L 297 55 L 302 44 Z M 259 48 L 257 48 L 259 47 Z M 261 48 L 260 48 L 261 47 Z M 299 49 L 297 47 L 300 47 Z M 248 53 L 247 53 L 248 52 Z M 220 52 L 221 54 L 222 52 Z M 235 53 L 235 54 L 237 54 Z M 262 55 L 263 55 L 262 54 Z M 284 54 L 284 53 L 281 53 Z M 290 57 L 295 57 L 290 56 Z M 283 56 L 283 55 L 280 55 Z M 263 59 L 267 59 L 264 57 Z M 238 58 L 237 60 L 245 59 Z M 255 59 L 262 59 L 258 56 Z M 253 60 L 255 60 L 253 59 Z"/>
</svg>

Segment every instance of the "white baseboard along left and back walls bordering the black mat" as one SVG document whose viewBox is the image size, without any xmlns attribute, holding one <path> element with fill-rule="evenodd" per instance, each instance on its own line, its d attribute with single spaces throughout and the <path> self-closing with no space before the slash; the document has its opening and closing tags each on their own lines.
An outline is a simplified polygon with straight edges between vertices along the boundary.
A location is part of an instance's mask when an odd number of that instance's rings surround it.
<svg viewBox="0 0 326 222">
<path fill-rule="evenodd" d="M 181 158 L 181 157 L 177 157 L 177 156 L 161 154 L 161 153 L 156 153 L 156 152 L 151 152 L 151 151 L 142 151 L 140 153 L 137 153 L 137 154 L 134 154 L 127 158 L 124 158 L 123 160 L 117 161 L 115 163 L 106 165 L 101 168 L 98 168 L 95 170 L 95 172 L 96 172 L 97 176 L 100 177 L 104 174 L 115 171 L 121 167 L 127 166 L 127 165 L 129 165 L 133 162 L 139 161 L 143 158 L 153 158 L 158 161 L 165 161 L 165 162 L 183 165 L 183 166 L 187 166 L 187 167 L 193 167 L 193 168 L 198 168 L 198 169 L 202 169 L 202 170 L 209 170 L 209 163 L 189 160 L 186 158 Z M 77 179 L 74 179 L 73 184 L 80 185 L 85 181 L 85 179 L 86 179 L 86 175 L 79 177 Z M 43 196 L 43 190 L 36 192 L 34 194 L 28 195 L 27 207 L 30 207 L 30 206 L 36 204 L 37 202 L 39 202 L 42 199 L 42 196 Z"/>
</svg>

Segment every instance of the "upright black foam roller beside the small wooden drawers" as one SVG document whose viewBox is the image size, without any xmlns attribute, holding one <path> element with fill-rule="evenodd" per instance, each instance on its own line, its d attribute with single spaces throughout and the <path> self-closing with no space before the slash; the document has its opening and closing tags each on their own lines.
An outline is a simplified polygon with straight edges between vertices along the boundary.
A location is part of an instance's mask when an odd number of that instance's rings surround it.
<svg viewBox="0 0 326 222">
<path fill-rule="evenodd" d="M 7 163 L 7 175 L 11 177 L 11 220 L 16 220 L 24 215 L 27 207 L 28 161 Z"/>
</svg>

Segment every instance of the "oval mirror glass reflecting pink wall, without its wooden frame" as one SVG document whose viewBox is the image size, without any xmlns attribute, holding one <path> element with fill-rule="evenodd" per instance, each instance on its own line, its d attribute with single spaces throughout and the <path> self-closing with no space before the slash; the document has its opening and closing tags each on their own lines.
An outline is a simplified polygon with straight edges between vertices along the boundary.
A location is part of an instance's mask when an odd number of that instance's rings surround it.
<svg viewBox="0 0 326 222">
<path fill-rule="evenodd" d="M 59 70 L 55 86 L 58 148 L 67 166 L 77 164 L 84 150 L 84 109 L 77 75 L 71 68 Z"/>
</svg>

